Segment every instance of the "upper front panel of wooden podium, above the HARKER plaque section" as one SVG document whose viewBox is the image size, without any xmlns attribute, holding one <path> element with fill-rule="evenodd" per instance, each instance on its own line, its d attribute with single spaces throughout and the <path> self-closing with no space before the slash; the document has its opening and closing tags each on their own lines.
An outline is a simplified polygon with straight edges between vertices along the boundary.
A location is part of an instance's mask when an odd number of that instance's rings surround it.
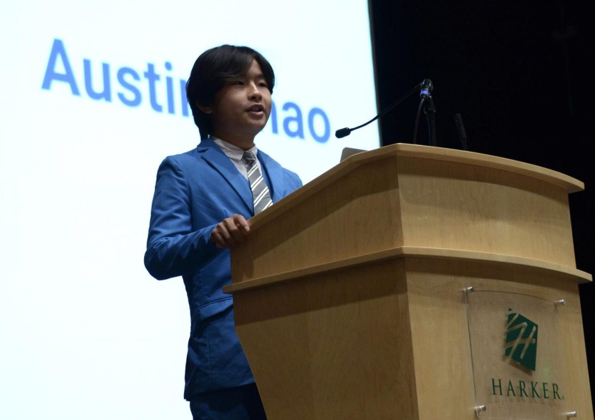
<svg viewBox="0 0 595 420">
<path fill-rule="evenodd" d="M 568 195 L 533 177 L 402 158 L 403 245 L 467 249 L 576 267 Z"/>
</svg>

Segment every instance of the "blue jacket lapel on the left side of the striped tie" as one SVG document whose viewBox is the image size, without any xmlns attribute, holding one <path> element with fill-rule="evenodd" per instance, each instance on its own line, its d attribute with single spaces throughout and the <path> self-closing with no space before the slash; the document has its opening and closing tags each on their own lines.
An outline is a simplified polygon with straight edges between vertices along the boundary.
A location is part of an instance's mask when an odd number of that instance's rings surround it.
<svg viewBox="0 0 595 420">
<path fill-rule="evenodd" d="M 246 182 L 246 178 L 240 174 L 231 159 L 212 140 L 202 140 L 198 145 L 198 152 L 201 158 L 220 173 L 237 195 L 242 198 L 250 212 L 253 212 L 252 191 Z"/>
</svg>

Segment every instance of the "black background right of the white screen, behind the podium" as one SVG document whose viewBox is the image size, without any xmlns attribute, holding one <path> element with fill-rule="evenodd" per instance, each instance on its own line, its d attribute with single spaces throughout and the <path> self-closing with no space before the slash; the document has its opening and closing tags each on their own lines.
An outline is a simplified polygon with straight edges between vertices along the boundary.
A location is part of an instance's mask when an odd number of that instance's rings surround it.
<svg viewBox="0 0 595 420">
<path fill-rule="evenodd" d="M 369 0 L 378 109 L 434 82 L 438 145 L 550 168 L 585 183 L 570 196 L 577 268 L 593 274 L 593 2 Z M 383 145 L 411 142 L 419 96 L 380 122 Z M 368 118 L 362 115 L 362 122 Z M 353 121 L 353 125 L 359 121 Z M 418 143 L 428 144 L 425 116 Z M 595 396 L 595 285 L 580 286 Z"/>
</svg>

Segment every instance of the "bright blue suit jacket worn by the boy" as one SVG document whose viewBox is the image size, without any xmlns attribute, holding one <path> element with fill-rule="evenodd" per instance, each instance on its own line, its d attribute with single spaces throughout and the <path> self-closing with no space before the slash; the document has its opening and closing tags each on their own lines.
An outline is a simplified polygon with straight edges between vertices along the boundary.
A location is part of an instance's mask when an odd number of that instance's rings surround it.
<svg viewBox="0 0 595 420">
<path fill-rule="evenodd" d="M 293 192 L 299 177 L 258 151 L 273 202 Z M 254 381 L 233 323 L 228 249 L 209 242 L 233 214 L 254 214 L 250 184 L 212 140 L 164 159 L 157 173 L 145 267 L 158 280 L 181 275 L 190 305 L 184 397 Z"/>
</svg>

